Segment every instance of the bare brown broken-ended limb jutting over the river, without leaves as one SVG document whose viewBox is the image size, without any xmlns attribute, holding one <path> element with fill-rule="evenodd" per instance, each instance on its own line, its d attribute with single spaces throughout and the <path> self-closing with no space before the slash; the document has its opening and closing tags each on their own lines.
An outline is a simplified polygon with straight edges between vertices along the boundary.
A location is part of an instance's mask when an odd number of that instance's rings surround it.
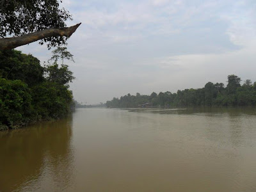
<svg viewBox="0 0 256 192">
<path fill-rule="evenodd" d="M 34 33 L 29 33 L 28 35 L 10 37 L 10 38 L 0 38 L 0 50 L 13 49 L 21 45 L 30 44 L 36 42 L 37 40 L 51 37 L 51 36 L 67 36 L 70 37 L 81 23 L 71 26 L 69 28 L 51 28 L 44 29 L 42 31 L 36 31 Z"/>
</svg>

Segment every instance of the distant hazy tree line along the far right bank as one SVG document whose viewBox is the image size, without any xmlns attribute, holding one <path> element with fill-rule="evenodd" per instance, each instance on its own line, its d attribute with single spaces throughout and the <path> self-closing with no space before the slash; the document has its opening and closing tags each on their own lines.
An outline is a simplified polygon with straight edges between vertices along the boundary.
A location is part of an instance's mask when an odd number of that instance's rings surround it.
<svg viewBox="0 0 256 192">
<path fill-rule="evenodd" d="M 256 82 L 252 84 L 252 81 L 247 79 L 241 85 L 240 77 L 230 75 L 226 87 L 223 83 L 208 82 L 204 88 L 178 90 L 177 93 L 127 94 L 120 97 L 120 99 L 114 97 L 107 101 L 106 105 L 108 108 L 255 106 Z"/>
</svg>

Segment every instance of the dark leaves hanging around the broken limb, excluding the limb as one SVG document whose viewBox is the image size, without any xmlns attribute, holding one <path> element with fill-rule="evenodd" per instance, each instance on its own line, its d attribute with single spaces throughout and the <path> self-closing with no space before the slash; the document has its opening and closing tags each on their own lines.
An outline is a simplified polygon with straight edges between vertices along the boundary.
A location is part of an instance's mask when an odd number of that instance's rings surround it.
<svg viewBox="0 0 256 192">
<path fill-rule="evenodd" d="M 72 19 L 70 13 L 59 8 L 57 0 L 1 0 L 0 37 L 25 35 L 48 28 L 65 28 L 65 21 Z M 67 37 L 44 38 L 48 47 L 65 45 Z"/>
</svg>

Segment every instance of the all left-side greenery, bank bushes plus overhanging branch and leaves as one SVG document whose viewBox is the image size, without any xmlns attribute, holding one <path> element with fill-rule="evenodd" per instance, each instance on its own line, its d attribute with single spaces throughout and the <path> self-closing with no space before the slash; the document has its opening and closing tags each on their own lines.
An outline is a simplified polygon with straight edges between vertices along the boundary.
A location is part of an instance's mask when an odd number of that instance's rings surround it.
<svg viewBox="0 0 256 192">
<path fill-rule="evenodd" d="M 67 28 L 72 15 L 62 1 L 0 2 L 0 130 L 67 115 L 72 104 L 68 83 L 74 77 L 63 59 L 72 60 L 67 40 L 81 23 Z M 13 50 L 37 40 L 49 49 L 58 47 L 44 67 L 32 55 Z"/>
</svg>

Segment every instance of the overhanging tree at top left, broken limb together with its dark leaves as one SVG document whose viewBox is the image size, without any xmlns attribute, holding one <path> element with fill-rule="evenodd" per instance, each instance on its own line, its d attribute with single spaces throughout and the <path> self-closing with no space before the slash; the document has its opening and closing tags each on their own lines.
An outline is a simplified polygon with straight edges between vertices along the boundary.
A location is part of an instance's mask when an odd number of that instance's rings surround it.
<svg viewBox="0 0 256 192">
<path fill-rule="evenodd" d="M 13 49 L 37 40 L 47 47 L 67 44 L 81 24 L 66 28 L 72 17 L 58 0 L 0 0 L 0 50 Z M 13 35 L 12 38 L 4 38 Z"/>
</svg>

